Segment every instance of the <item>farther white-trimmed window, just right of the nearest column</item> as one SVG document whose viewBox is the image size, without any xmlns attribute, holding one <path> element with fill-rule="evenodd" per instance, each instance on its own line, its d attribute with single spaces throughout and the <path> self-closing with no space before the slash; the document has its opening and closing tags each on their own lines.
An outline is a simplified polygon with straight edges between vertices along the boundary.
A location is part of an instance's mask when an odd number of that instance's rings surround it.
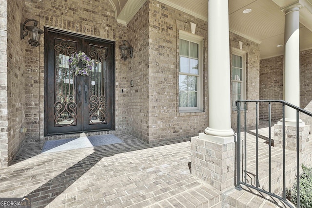
<svg viewBox="0 0 312 208">
<path fill-rule="evenodd" d="M 232 108 L 236 109 L 235 101 L 245 99 L 246 52 L 232 50 Z"/>
</svg>

